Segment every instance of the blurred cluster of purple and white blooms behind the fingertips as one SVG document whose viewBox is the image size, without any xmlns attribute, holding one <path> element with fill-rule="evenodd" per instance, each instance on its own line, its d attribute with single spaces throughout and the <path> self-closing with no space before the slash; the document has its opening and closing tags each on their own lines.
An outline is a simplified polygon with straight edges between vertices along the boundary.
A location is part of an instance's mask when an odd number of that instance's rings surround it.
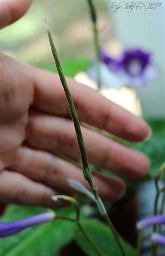
<svg viewBox="0 0 165 256">
<path fill-rule="evenodd" d="M 157 70 L 152 64 L 151 53 L 141 49 L 125 50 L 120 57 L 112 58 L 100 48 L 100 73 L 103 88 L 138 87 L 157 77 Z M 96 63 L 87 71 L 89 78 L 97 81 Z"/>
</svg>

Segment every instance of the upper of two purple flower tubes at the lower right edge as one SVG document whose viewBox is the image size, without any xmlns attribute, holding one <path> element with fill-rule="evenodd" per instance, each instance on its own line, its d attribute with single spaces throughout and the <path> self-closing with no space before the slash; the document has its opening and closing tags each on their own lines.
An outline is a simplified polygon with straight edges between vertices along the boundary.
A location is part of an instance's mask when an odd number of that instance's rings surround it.
<svg viewBox="0 0 165 256">
<path fill-rule="evenodd" d="M 165 224 L 165 215 L 156 215 L 156 216 L 141 220 L 137 222 L 137 228 L 143 229 L 156 224 Z"/>
</svg>

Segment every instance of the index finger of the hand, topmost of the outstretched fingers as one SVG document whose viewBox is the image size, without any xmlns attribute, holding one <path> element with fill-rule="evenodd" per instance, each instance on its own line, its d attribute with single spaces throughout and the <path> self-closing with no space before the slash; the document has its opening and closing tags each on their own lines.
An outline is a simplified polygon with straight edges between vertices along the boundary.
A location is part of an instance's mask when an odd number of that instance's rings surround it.
<svg viewBox="0 0 165 256">
<path fill-rule="evenodd" d="M 48 113 L 70 117 L 61 81 L 57 75 L 36 69 L 34 106 Z M 103 97 L 99 92 L 66 79 L 81 122 L 104 129 L 129 141 L 142 141 L 150 128 L 141 118 Z"/>
</svg>

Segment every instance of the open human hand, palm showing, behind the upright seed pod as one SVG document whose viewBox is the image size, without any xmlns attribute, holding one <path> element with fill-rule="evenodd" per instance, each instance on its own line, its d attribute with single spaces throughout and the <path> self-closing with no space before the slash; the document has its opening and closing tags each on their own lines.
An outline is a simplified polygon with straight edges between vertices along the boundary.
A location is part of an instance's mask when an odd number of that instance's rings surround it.
<svg viewBox="0 0 165 256">
<path fill-rule="evenodd" d="M 25 14 L 32 0 L 0 0 L 0 28 Z M 31 7 L 32 8 L 32 7 Z M 51 54 L 51 53 L 50 53 Z M 138 142 L 149 136 L 142 119 L 105 99 L 98 92 L 67 78 L 80 122 Z M 145 155 L 82 126 L 91 164 L 125 177 L 143 178 L 149 170 Z M 58 75 L 0 55 L 0 201 L 60 207 L 52 195 L 72 194 L 68 178 L 87 188 L 80 166 L 57 154 L 80 158 L 76 134 Z M 93 171 L 102 199 L 123 197 L 119 178 Z"/>
</svg>

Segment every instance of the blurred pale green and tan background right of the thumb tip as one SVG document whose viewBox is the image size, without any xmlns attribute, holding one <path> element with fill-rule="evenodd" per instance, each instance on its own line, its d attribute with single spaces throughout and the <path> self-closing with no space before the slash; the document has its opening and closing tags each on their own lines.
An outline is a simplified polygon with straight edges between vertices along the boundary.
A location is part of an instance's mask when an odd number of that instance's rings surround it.
<svg viewBox="0 0 165 256">
<path fill-rule="evenodd" d="M 117 51 L 119 42 L 111 27 L 107 1 L 96 0 L 101 43 Z M 42 22 L 46 16 L 60 59 L 94 57 L 92 24 L 84 0 L 34 0 L 20 20 L 1 30 L 1 50 L 20 61 L 40 66 L 53 63 Z"/>
</svg>

